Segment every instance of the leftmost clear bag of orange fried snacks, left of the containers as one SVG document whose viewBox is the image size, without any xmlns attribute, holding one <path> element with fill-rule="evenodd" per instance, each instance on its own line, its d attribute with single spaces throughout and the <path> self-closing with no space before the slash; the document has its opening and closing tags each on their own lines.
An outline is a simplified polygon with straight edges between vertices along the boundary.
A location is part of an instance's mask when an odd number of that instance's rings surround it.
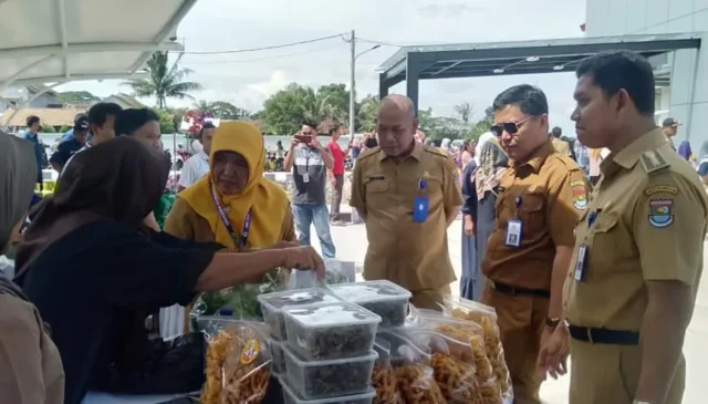
<svg viewBox="0 0 708 404">
<path fill-rule="evenodd" d="M 219 317 L 197 319 L 207 336 L 201 404 L 261 404 L 272 356 L 264 324 Z"/>
</svg>

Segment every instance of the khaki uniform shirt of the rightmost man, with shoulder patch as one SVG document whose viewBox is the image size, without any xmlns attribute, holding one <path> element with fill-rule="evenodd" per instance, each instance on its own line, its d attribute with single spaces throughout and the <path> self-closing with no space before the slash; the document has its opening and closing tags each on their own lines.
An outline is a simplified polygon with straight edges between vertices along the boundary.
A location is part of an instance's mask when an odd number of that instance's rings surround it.
<svg viewBox="0 0 708 404">
<path fill-rule="evenodd" d="M 645 281 L 679 280 L 698 289 L 708 200 L 662 130 L 607 156 L 601 168 L 604 176 L 577 225 L 564 311 L 574 325 L 639 331 Z M 581 245 L 587 252 L 579 282 Z"/>
</svg>

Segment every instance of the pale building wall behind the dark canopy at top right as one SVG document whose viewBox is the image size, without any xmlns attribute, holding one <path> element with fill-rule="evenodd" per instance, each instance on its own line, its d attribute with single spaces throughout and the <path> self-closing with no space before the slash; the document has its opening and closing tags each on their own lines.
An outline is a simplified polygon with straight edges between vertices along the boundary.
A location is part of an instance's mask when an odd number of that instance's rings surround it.
<svg viewBox="0 0 708 404">
<path fill-rule="evenodd" d="M 704 50 L 680 50 L 652 60 L 657 76 L 657 122 L 671 116 L 684 125 L 679 141 L 697 152 L 708 141 L 708 0 L 587 0 L 585 34 L 701 34 Z M 702 125 L 701 125 L 702 124 Z"/>
</svg>

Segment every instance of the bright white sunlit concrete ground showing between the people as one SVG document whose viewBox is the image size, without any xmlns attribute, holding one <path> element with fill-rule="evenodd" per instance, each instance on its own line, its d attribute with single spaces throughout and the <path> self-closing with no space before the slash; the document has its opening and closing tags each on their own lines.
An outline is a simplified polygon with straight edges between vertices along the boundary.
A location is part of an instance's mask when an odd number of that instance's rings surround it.
<svg viewBox="0 0 708 404">
<path fill-rule="evenodd" d="M 350 211 L 348 206 L 342 206 L 342 211 Z M 461 219 L 456 220 L 448 229 L 448 245 L 450 259 L 459 278 L 461 274 Z M 348 225 L 344 227 L 331 227 L 336 255 L 341 260 L 363 262 L 366 253 L 366 229 L 364 225 Z M 313 246 L 320 248 L 314 228 L 311 230 Z M 708 246 L 706 246 L 708 248 Z M 704 266 L 708 267 L 706 256 Z M 704 277 L 705 278 L 705 277 Z M 452 284 L 454 293 L 459 293 L 459 286 Z M 704 404 L 708 402 L 708 284 L 706 279 L 701 282 L 696 300 L 693 321 L 686 333 L 684 354 L 687 361 L 687 380 L 684 404 Z M 704 376 L 700 376 L 704 374 Z M 701 380 L 704 382 L 701 382 Z M 541 387 L 541 398 L 545 404 L 568 403 L 570 377 L 566 375 L 556 381 L 548 381 Z"/>
</svg>

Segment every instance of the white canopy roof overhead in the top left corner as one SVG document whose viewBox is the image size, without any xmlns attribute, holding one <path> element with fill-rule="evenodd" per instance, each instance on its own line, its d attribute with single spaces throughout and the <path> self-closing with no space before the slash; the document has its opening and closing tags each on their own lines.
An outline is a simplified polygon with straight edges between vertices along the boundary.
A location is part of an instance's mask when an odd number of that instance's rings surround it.
<svg viewBox="0 0 708 404">
<path fill-rule="evenodd" d="M 0 0 L 0 91 L 135 74 L 196 1 Z"/>
</svg>

